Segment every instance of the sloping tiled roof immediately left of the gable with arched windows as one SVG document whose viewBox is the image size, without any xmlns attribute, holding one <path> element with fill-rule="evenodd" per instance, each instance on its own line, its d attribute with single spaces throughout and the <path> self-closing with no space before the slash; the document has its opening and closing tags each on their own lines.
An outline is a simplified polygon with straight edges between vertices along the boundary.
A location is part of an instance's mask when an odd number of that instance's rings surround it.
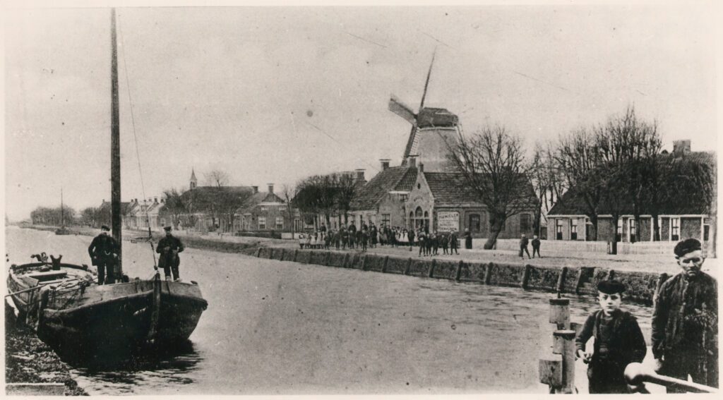
<svg viewBox="0 0 723 400">
<path fill-rule="evenodd" d="M 416 171 L 416 168 L 390 167 L 377 173 L 356 192 L 351 209 L 374 209 L 390 191 L 411 191 L 416 182 Z"/>
</svg>

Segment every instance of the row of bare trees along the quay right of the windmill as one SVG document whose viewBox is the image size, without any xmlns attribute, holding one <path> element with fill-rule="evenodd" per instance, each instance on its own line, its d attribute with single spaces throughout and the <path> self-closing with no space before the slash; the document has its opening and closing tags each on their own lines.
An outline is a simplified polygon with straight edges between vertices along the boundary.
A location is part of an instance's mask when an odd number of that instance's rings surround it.
<svg viewBox="0 0 723 400">
<path fill-rule="evenodd" d="M 656 121 L 643 121 L 635 109 L 604 123 L 560 134 L 526 153 L 519 136 L 503 126 L 486 126 L 450 148 L 449 166 L 461 175 L 460 186 L 487 206 L 495 244 L 504 222 L 534 209 L 534 231 L 555 204 L 582 204 L 590 219 L 591 240 L 598 238 L 601 214 L 612 215 L 615 229 L 623 214 L 639 227 L 641 214 L 654 222 L 660 240 L 659 215 L 698 209 L 715 214 L 716 171 L 706 160 L 662 150 Z M 613 251 L 617 235 L 614 235 Z"/>
</svg>

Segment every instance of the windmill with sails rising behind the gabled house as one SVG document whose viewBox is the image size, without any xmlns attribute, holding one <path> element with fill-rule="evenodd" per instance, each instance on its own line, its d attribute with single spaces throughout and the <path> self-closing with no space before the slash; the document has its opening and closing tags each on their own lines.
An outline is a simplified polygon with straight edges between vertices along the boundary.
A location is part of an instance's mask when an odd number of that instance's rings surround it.
<svg viewBox="0 0 723 400">
<path fill-rule="evenodd" d="M 424 161 L 424 168 L 427 171 L 442 172 L 445 169 L 448 149 L 458 143 L 459 118 L 445 108 L 424 107 L 434 64 L 435 53 L 432 54 L 432 62 L 429 63 L 422 101 L 419 102 L 419 112 L 414 113 L 411 107 L 394 95 L 389 100 L 389 110 L 411 123 L 402 165 L 409 165 L 410 157 L 419 156 L 420 161 Z"/>
</svg>

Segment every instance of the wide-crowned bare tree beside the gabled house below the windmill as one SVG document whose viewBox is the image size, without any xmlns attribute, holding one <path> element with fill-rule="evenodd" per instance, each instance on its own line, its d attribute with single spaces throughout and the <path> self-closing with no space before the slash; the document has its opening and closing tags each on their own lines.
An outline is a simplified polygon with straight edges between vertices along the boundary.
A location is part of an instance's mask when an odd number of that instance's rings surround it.
<svg viewBox="0 0 723 400">
<path fill-rule="evenodd" d="M 505 221 L 534 207 L 529 187 L 531 164 L 521 139 L 502 126 L 486 126 L 471 138 L 461 138 L 449 153 L 450 166 L 460 175 L 458 184 L 487 206 L 490 235 L 484 248 L 493 248 Z"/>
</svg>

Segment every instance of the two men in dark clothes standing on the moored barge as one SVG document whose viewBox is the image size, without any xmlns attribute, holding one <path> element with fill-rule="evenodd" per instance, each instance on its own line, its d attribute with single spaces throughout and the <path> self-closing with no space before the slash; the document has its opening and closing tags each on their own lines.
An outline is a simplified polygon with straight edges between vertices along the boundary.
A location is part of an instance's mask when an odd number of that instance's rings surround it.
<svg viewBox="0 0 723 400">
<path fill-rule="evenodd" d="M 93 238 L 88 246 L 88 254 L 90 254 L 91 263 L 98 269 L 98 284 L 114 284 L 117 277 L 116 266 L 120 257 L 120 249 L 118 241 L 108 235 L 111 229 L 103 225 L 100 227 L 100 235 Z M 158 256 L 158 267 L 163 269 L 166 280 L 171 280 L 171 274 L 174 281 L 180 281 L 179 265 L 181 259 L 179 253 L 184 251 L 184 245 L 179 238 L 171 234 L 171 227 L 163 227 L 166 231 L 166 237 L 158 241 L 156 253 Z"/>
</svg>

